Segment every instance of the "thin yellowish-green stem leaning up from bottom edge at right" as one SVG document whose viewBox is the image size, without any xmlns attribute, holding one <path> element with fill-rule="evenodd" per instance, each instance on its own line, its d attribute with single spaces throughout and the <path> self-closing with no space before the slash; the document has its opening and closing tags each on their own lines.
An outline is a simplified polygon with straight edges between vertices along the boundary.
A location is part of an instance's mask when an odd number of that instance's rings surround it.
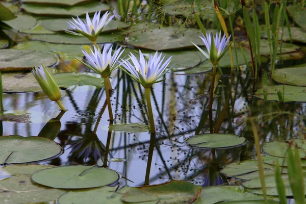
<svg viewBox="0 0 306 204">
<path fill-rule="evenodd" d="M 258 136 L 257 128 L 255 126 L 255 123 L 254 123 L 253 119 L 250 119 L 250 122 L 251 122 L 251 125 L 252 125 L 252 131 L 253 131 L 253 134 L 254 134 L 260 181 L 261 181 L 262 190 L 263 190 L 263 194 L 264 194 L 265 204 L 267 204 L 268 203 L 267 191 L 266 191 L 266 184 L 265 184 L 264 167 L 263 167 L 263 162 L 262 162 L 262 158 L 261 158 L 261 148 L 260 148 L 259 136 Z"/>
</svg>

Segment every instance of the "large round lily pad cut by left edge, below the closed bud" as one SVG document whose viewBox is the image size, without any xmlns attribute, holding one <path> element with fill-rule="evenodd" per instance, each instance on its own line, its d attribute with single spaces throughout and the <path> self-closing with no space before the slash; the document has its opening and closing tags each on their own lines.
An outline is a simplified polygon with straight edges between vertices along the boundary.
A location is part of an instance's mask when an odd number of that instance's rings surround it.
<svg viewBox="0 0 306 204">
<path fill-rule="evenodd" d="M 37 162 L 55 157 L 61 151 L 56 142 L 42 137 L 0 137 L 0 164 Z"/>
</svg>

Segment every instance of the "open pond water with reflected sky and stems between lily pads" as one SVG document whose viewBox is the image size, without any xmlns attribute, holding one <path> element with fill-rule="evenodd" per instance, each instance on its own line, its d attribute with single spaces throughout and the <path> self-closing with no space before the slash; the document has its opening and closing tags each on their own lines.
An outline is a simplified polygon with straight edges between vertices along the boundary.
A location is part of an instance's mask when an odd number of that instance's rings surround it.
<svg viewBox="0 0 306 204">
<path fill-rule="evenodd" d="M 184 142 L 185 138 L 196 133 L 210 133 L 206 96 L 211 83 L 210 73 L 180 75 L 179 72 L 170 72 L 166 81 L 153 86 L 151 101 L 157 135 L 156 140 L 151 141 L 151 148 L 149 133 L 108 131 L 105 91 L 91 86 L 62 90 L 62 102 L 69 110 L 65 113 L 61 113 L 56 103 L 43 92 L 5 94 L 5 109 L 30 112 L 32 122 L 3 122 L 3 135 L 47 135 L 54 139 L 64 152 L 43 164 L 103 165 L 108 153 L 108 167 L 128 179 L 121 179 L 121 185 L 143 185 L 148 176 L 147 162 L 151 159 L 150 184 L 189 180 L 207 186 L 210 184 L 208 173 L 216 173 L 228 163 L 250 159 L 256 154 L 249 117 L 257 119 L 262 142 L 303 138 L 306 134 L 305 103 L 265 102 L 253 96 L 254 90 L 261 85 L 261 79 L 254 81 L 251 72 L 231 75 L 228 68 L 222 71 L 224 75 L 219 76 L 215 91 L 218 96 L 213 105 L 213 125 L 219 133 L 247 138 L 249 142 L 240 147 L 212 151 L 192 149 Z M 120 70 L 112 77 L 114 123 L 148 124 L 143 88 Z M 59 116 L 62 116 L 60 122 L 46 123 L 59 114 L 63 114 Z M 0 179 L 4 177 L 6 175 L 0 174 Z M 215 184 L 226 182 L 218 173 L 215 177 L 218 178 Z"/>
</svg>

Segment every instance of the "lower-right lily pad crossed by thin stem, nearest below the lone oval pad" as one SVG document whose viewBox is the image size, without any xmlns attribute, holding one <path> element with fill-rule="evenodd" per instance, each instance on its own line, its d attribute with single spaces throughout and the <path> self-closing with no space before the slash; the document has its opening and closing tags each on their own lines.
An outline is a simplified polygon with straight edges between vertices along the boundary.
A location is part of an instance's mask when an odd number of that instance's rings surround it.
<svg viewBox="0 0 306 204">
<path fill-rule="evenodd" d="M 264 170 L 273 170 L 274 167 L 268 164 L 263 164 Z M 258 161 L 256 160 L 245 160 L 239 163 L 231 163 L 221 170 L 228 177 L 237 177 L 239 175 L 248 174 L 254 171 L 258 171 Z"/>
</svg>

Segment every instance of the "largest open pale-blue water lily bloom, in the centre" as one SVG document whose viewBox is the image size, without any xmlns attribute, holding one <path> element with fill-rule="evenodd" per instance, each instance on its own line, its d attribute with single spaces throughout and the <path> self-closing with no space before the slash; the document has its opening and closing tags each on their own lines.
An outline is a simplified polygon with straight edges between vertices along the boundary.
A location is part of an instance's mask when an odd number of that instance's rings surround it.
<svg viewBox="0 0 306 204">
<path fill-rule="evenodd" d="M 119 63 L 125 68 L 122 68 L 122 70 L 129 74 L 135 81 L 139 82 L 144 88 L 165 80 L 159 79 L 170 70 L 166 70 L 166 68 L 170 63 L 172 56 L 163 63 L 165 56 L 162 58 L 162 53 L 158 55 L 158 52 L 156 52 L 154 56 L 150 54 L 148 61 L 144 58 L 140 50 L 140 60 L 138 60 L 132 53 L 130 54 L 129 57 L 134 65 L 132 65 L 129 60 L 123 60 Z"/>
</svg>

